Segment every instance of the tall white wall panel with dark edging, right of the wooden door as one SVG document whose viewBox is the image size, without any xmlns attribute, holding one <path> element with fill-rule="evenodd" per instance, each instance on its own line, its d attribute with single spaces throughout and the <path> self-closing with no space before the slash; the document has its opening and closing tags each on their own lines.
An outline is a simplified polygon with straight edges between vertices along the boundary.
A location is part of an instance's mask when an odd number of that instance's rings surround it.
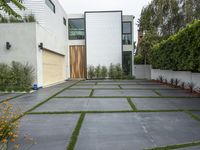
<svg viewBox="0 0 200 150">
<path fill-rule="evenodd" d="M 122 64 L 122 12 L 86 12 L 87 66 Z"/>
</svg>

